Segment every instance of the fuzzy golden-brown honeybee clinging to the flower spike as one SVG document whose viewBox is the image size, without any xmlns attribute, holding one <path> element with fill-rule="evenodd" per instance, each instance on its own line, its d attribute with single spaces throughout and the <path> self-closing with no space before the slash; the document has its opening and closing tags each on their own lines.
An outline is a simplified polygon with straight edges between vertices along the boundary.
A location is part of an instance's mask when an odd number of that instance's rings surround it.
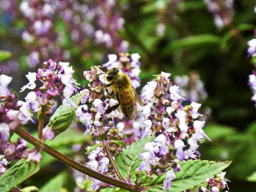
<svg viewBox="0 0 256 192">
<path fill-rule="evenodd" d="M 105 113 L 108 114 L 114 111 L 120 105 L 124 116 L 135 119 L 135 102 L 138 102 L 141 106 L 143 106 L 143 103 L 135 88 L 132 86 L 129 77 L 121 73 L 117 68 L 112 68 L 107 72 L 105 78 L 109 81 L 109 84 L 106 84 L 105 87 L 110 87 L 112 90 L 111 92 L 107 90 L 107 94 L 118 100 L 118 104 L 107 108 Z"/>
</svg>

